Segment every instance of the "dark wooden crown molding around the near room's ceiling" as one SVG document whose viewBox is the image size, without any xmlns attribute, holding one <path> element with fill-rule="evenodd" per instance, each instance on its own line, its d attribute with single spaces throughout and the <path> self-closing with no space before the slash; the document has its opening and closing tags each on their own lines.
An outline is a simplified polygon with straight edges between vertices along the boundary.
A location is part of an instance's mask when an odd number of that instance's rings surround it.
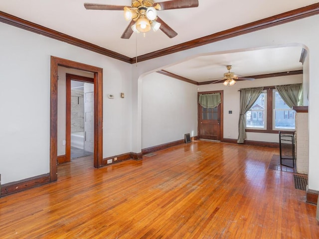
<svg viewBox="0 0 319 239">
<path fill-rule="evenodd" d="M 258 21 L 248 23 L 248 24 L 244 24 L 231 29 L 220 31 L 205 37 L 197 38 L 197 39 L 187 41 L 178 45 L 167 47 L 158 51 L 154 51 L 145 55 L 138 56 L 137 58 L 136 57 L 130 58 L 128 56 L 97 46 L 87 41 L 83 41 L 73 36 L 69 36 L 64 33 L 52 30 L 50 28 L 35 24 L 33 22 L 26 21 L 24 19 L 10 15 L 3 11 L 0 11 L 0 22 L 6 23 L 12 26 L 16 26 L 24 30 L 35 32 L 35 33 L 59 40 L 59 41 L 67 42 L 69 44 L 72 44 L 93 52 L 97 52 L 99 54 L 102 54 L 117 60 L 121 60 L 121 61 L 133 64 L 136 62 L 136 60 L 138 62 L 150 60 L 160 56 L 165 56 L 168 54 L 191 49 L 191 48 L 202 46 L 212 42 L 225 40 L 231 37 L 243 35 L 249 32 L 265 29 L 265 28 L 280 25 L 280 24 L 284 24 L 287 22 L 291 22 L 294 20 L 298 20 L 298 19 L 316 15 L 316 14 L 319 14 L 319 3 L 297 8 L 297 9 L 287 11 L 275 16 L 267 17 Z"/>
</svg>

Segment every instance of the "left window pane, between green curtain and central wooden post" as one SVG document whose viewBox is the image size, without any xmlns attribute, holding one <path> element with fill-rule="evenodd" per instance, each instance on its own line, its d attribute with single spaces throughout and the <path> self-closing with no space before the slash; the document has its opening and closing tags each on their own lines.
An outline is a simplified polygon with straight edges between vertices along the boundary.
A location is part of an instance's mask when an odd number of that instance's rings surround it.
<svg viewBox="0 0 319 239">
<path fill-rule="evenodd" d="M 267 100 L 265 99 L 267 99 L 267 92 L 263 91 L 252 108 L 246 113 L 246 128 L 266 128 Z"/>
</svg>

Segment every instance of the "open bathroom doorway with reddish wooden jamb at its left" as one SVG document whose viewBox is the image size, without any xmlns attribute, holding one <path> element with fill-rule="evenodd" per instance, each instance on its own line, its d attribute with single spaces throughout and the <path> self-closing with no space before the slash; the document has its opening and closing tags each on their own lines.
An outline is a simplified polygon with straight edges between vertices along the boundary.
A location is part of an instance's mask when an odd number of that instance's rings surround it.
<svg viewBox="0 0 319 239">
<path fill-rule="evenodd" d="M 94 79 L 66 74 L 66 161 L 94 154 Z"/>
</svg>

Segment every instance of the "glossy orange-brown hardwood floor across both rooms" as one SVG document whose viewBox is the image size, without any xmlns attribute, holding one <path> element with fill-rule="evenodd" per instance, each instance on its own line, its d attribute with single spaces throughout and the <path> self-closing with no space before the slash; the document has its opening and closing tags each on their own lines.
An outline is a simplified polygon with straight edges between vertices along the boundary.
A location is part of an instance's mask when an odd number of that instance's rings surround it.
<svg viewBox="0 0 319 239">
<path fill-rule="evenodd" d="M 316 207 L 279 149 L 193 141 L 101 169 L 88 156 L 58 181 L 0 198 L 1 239 L 316 239 Z"/>
</svg>

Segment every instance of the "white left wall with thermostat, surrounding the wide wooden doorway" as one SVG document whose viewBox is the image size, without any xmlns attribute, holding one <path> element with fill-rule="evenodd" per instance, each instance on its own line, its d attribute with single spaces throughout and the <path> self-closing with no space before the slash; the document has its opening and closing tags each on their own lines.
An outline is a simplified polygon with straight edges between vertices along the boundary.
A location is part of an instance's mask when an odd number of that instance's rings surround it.
<svg viewBox="0 0 319 239">
<path fill-rule="evenodd" d="M 4 23 L 0 32 L 2 184 L 49 172 L 50 56 L 103 68 L 103 157 L 132 151 L 131 64 Z"/>
</svg>

